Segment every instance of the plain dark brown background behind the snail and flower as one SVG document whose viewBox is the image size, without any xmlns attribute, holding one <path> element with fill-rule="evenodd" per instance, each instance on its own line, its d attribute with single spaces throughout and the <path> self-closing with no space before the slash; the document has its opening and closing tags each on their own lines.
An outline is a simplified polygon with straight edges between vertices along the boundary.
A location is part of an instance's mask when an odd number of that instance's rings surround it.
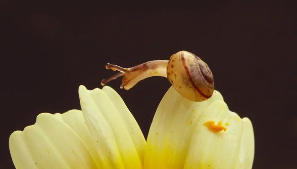
<svg viewBox="0 0 297 169">
<path fill-rule="evenodd" d="M 188 50 L 211 68 L 229 108 L 253 123 L 253 169 L 297 169 L 297 3 L 0 2 L 1 169 L 8 138 L 41 112 L 79 109 L 78 86 Z M 145 135 L 170 84 L 111 82 Z"/>
</svg>

